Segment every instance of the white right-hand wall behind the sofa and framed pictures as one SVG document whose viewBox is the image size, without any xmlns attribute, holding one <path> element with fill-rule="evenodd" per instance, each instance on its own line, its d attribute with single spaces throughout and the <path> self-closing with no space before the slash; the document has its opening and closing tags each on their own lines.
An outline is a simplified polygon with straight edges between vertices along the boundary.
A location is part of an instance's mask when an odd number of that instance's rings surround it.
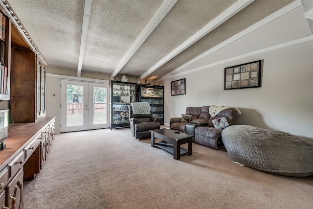
<svg viewBox="0 0 313 209">
<path fill-rule="evenodd" d="M 224 91 L 224 68 L 262 60 L 261 88 Z M 209 63 L 207 63 L 209 64 Z M 240 109 L 236 124 L 247 124 L 313 139 L 313 41 L 285 46 L 191 70 L 159 81 L 164 85 L 164 122 L 186 107 L 229 105 Z M 171 81 L 186 78 L 186 94 L 171 96 Z"/>
</svg>

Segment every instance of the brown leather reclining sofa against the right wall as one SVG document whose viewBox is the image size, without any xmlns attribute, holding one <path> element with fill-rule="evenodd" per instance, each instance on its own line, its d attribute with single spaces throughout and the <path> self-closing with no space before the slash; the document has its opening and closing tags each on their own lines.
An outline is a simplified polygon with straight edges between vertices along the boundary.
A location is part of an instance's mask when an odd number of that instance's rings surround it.
<svg viewBox="0 0 313 209">
<path fill-rule="evenodd" d="M 222 140 L 223 129 L 216 129 L 212 120 L 226 117 L 229 125 L 234 125 L 236 120 L 236 110 L 233 108 L 220 112 L 217 116 L 211 117 L 210 106 L 187 107 L 185 115 L 192 115 L 190 123 L 181 122 L 181 117 L 172 117 L 170 129 L 193 135 L 192 141 L 213 149 L 224 147 Z"/>
</svg>

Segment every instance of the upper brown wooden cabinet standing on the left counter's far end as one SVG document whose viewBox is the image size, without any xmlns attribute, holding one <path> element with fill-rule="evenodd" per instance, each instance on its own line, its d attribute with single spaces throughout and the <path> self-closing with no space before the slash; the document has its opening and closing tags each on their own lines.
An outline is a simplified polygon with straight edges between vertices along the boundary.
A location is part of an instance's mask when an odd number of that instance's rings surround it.
<svg viewBox="0 0 313 209">
<path fill-rule="evenodd" d="M 45 116 L 45 66 L 28 49 L 12 49 L 11 123 Z M 37 70 L 36 70 L 37 69 Z"/>
</svg>

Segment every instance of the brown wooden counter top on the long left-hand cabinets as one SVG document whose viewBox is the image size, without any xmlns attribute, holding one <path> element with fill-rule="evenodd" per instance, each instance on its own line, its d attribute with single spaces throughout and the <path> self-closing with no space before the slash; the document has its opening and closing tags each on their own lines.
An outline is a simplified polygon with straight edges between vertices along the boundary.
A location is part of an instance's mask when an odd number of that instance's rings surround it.
<svg viewBox="0 0 313 209">
<path fill-rule="evenodd" d="M 55 117 L 42 117 L 33 123 L 13 123 L 8 125 L 8 138 L 6 148 L 0 151 L 0 171 L 10 163 L 31 142 L 45 125 L 54 120 Z"/>
</svg>

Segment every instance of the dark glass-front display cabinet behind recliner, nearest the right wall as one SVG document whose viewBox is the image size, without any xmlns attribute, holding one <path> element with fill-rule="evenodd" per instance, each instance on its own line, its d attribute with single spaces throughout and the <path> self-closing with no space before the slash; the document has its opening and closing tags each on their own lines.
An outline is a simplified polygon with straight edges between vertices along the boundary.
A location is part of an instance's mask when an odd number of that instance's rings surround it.
<svg viewBox="0 0 313 209">
<path fill-rule="evenodd" d="M 138 102 L 148 102 L 152 115 L 159 118 L 159 123 L 164 124 L 164 87 L 156 85 L 137 85 Z"/>
</svg>

